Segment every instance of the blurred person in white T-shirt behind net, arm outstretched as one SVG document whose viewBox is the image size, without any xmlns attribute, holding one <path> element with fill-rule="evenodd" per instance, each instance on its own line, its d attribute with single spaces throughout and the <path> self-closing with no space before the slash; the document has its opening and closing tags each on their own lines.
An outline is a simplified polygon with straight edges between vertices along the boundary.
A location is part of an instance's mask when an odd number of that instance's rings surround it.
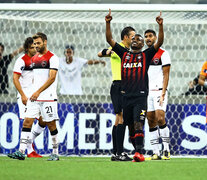
<svg viewBox="0 0 207 180">
<path fill-rule="evenodd" d="M 81 88 L 81 72 L 82 67 L 93 64 L 103 64 L 101 60 L 87 60 L 84 58 L 74 57 L 74 46 L 67 45 L 65 47 L 65 57 L 60 58 L 60 94 L 63 95 L 82 95 Z"/>
</svg>

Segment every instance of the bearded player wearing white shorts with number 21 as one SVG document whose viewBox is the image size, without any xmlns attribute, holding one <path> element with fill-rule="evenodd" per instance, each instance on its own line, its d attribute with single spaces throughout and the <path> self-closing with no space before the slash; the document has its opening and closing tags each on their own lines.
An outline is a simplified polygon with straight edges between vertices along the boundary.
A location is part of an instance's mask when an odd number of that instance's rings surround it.
<svg viewBox="0 0 207 180">
<path fill-rule="evenodd" d="M 35 118 L 40 115 L 46 122 L 52 137 L 53 152 L 49 161 L 59 160 L 56 120 L 57 114 L 57 70 L 59 58 L 47 49 L 47 36 L 37 33 L 33 36 L 37 54 L 33 56 L 34 93 L 27 102 L 26 118 L 21 132 L 19 151 L 13 153 L 14 158 L 25 159 L 25 149 L 28 144 L 31 127 Z"/>
</svg>

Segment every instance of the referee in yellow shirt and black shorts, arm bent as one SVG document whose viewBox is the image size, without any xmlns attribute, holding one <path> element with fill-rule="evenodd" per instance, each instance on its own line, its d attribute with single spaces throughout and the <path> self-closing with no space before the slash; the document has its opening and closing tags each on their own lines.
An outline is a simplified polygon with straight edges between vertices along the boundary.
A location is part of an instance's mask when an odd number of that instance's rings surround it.
<svg viewBox="0 0 207 180">
<path fill-rule="evenodd" d="M 129 49 L 131 45 L 131 39 L 135 35 L 135 29 L 128 26 L 121 32 L 121 40 L 119 43 L 122 47 Z M 112 51 L 111 48 L 103 49 L 98 53 L 99 57 L 110 56 L 111 57 L 111 70 L 113 83 L 111 85 L 111 100 L 116 114 L 115 124 L 112 129 L 113 140 L 113 154 L 111 156 L 112 161 L 131 161 L 126 153 L 123 153 L 123 141 L 125 133 L 125 125 L 123 125 L 122 114 L 122 95 L 121 95 L 121 59 Z M 133 141 L 133 140 L 132 140 Z M 116 156 L 117 154 L 117 156 Z"/>
</svg>

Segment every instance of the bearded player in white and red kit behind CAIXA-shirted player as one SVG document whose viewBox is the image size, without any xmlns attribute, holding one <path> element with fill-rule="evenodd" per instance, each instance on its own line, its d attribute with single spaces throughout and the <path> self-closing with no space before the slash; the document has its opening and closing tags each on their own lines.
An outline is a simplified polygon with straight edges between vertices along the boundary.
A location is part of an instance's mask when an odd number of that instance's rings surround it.
<svg viewBox="0 0 207 180">
<path fill-rule="evenodd" d="M 149 48 L 152 47 L 157 40 L 155 31 L 148 29 L 145 31 L 144 36 L 146 45 Z M 147 102 L 147 119 L 150 128 L 150 143 L 153 149 L 153 155 L 150 158 L 147 158 L 149 160 L 161 159 L 159 151 L 160 137 L 164 147 L 162 159 L 170 159 L 169 128 L 165 121 L 170 64 L 171 60 L 169 53 L 165 49 L 159 48 L 158 52 L 152 58 L 148 70 L 149 95 Z"/>
</svg>

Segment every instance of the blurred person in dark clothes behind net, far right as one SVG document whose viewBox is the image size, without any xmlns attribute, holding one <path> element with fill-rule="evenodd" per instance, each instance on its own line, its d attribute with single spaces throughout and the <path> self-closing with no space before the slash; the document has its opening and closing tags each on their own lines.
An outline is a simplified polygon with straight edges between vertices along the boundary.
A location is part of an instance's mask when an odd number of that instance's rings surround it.
<svg viewBox="0 0 207 180">
<path fill-rule="evenodd" d="M 193 80 L 189 82 L 189 89 L 187 92 L 185 92 L 185 96 L 188 96 L 190 94 L 193 95 L 204 95 L 207 92 L 207 88 L 201 86 L 198 84 L 199 75 Z"/>
</svg>

